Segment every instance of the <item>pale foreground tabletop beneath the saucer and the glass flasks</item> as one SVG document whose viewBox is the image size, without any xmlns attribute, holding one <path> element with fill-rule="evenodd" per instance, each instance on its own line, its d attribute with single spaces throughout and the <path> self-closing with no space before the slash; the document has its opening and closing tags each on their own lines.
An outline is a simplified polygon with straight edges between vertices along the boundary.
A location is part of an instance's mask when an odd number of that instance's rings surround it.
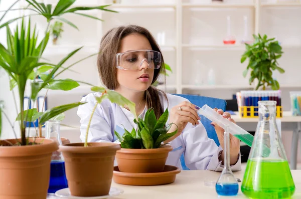
<svg viewBox="0 0 301 199">
<path fill-rule="evenodd" d="M 301 170 L 291 170 L 294 183 L 295 193 L 292 199 L 301 198 Z M 215 187 L 204 185 L 205 180 L 217 180 L 221 172 L 209 170 L 183 170 L 176 177 L 174 183 L 157 186 L 130 186 L 116 184 L 112 182 L 112 187 L 121 188 L 124 192 L 114 198 L 120 199 L 193 199 L 193 198 L 247 198 L 241 190 L 239 182 L 239 193 L 237 196 L 218 196 Z M 235 177 L 242 180 L 244 171 L 234 172 Z"/>
</svg>

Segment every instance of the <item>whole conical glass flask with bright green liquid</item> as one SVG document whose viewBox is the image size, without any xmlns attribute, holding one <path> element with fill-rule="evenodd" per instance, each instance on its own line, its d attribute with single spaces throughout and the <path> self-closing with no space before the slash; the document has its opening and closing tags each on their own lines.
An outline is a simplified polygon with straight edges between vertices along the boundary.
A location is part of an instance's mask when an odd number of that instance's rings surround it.
<svg viewBox="0 0 301 199">
<path fill-rule="evenodd" d="M 289 198 L 295 191 L 276 126 L 276 101 L 258 102 L 259 122 L 241 191 L 249 198 Z"/>
</svg>

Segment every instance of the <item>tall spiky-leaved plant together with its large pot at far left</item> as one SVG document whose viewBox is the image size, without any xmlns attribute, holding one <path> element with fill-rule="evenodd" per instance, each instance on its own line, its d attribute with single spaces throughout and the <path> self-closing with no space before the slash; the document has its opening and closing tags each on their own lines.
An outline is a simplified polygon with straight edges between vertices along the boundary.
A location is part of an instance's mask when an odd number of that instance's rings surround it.
<svg viewBox="0 0 301 199">
<path fill-rule="evenodd" d="M 16 1 L 9 10 L 6 11 L 0 19 L 0 22 L 18 2 L 19 1 Z M 23 107 L 28 107 L 28 104 L 24 104 L 25 89 L 32 77 L 32 74 L 34 74 L 33 77 L 36 77 L 39 71 L 41 72 L 45 70 L 45 67 L 47 66 L 52 66 L 51 73 L 41 78 L 43 80 L 42 82 L 35 81 L 34 79 L 31 83 L 31 100 L 35 101 L 38 93 L 45 88 L 70 90 L 78 86 L 76 85 L 77 82 L 74 80 L 57 80 L 54 79 L 54 76 L 68 70 L 68 68 L 74 65 L 73 64 L 67 68 L 63 68 L 62 66 L 81 48 L 68 54 L 57 65 L 40 61 L 49 40 L 49 25 L 53 19 L 57 19 L 77 29 L 73 23 L 67 21 L 62 16 L 66 13 L 71 13 L 98 19 L 86 14 L 83 15 L 81 13 L 77 13 L 76 11 L 94 9 L 104 11 L 110 10 L 106 9 L 109 5 L 70 8 L 74 4 L 75 0 L 60 0 L 54 9 L 52 9 L 52 5 L 37 3 L 35 0 L 26 0 L 26 2 L 29 3 L 29 7 L 25 9 L 35 12 L 35 15 L 44 16 L 47 19 L 48 25 L 45 31 L 45 37 L 42 38 L 40 43 L 37 42 L 38 36 L 36 34 L 36 29 L 32 30 L 30 21 L 26 22 L 24 20 L 28 16 L 18 17 L 0 25 L 0 29 L 3 27 L 7 28 L 7 44 L 3 45 L 0 43 L 0 67 L 2 67 L 11 78 L 11 90 L 14 89 L 14 87 L 18 89 L 18 99 L 16 98 L 15 101 L 19 103 L 19 115 L 17 120 L 20 121 L 21 135 L 21 138 L 18 138 L 19 136 L 15 133 L 15 139 L 0 140 L 0 164 L 2 165 L 0 168 L 0 174 L 2 176 L 0 179 L 0 186 L 2 187 L 0 190 L 0 198 L 45 199 L 49 185 L 50 156 L 52 152 L 58 149 L 58 145 L 51 139 L 27 137 L 26 122 L 35 121 L 39 118 L 39 125 L 43 125 L 45 121 L 83 103 L 78 102 L 54 107 L 44 113 L 38 112 L 36 109 L 24 111 Z M 13 32 L 8 25 L 19 19 L 22 19 L 22 24 L 21 26 L 17 25 L 16 31 Z M 62 71 L 59 72 L 59 69 L 62 69 Z M 72 86 L 70 86 L 69 83 L 71 83 Z M 69 88 L 66 88 L 66 85 L 68 85 L 67 87 Z M 14 128 L 12 131 L 15 132 Z M 22 164 L 20 162 L 22 162 Z M 32 165 L 35 166 L 33 167 Z M 30 183 L 28 183 L 29 179 Z"/>
</svg>

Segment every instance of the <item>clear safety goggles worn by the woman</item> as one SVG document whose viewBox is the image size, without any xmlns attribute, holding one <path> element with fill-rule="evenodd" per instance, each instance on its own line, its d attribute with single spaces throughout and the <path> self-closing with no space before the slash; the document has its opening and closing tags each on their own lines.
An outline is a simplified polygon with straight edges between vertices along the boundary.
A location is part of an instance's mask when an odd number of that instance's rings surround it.
<svg viewBox="0 0 301 199">
<path fill-rule="evenodd" d="M 117 68 L 122 70 L 138 70 L 144 62 L 151 69 L 159 69 L 162 64 L 161 53 L 151 50 L 127 51 L 116 54 Z"/>
</svg>

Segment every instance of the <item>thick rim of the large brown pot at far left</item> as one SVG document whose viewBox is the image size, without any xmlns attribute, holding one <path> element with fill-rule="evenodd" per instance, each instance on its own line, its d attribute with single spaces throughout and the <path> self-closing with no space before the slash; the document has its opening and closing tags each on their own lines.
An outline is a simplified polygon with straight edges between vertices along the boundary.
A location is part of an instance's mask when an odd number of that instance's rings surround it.
<svg viewBox="0 0 301 199">
<path fill-rule="evenodd" d="M 34 140 L 33 137 L 29 138 Z M 16 143 L 16 139 L 5 139 L 12 143 Z M 21 139 L 17 139 L 21 141 Z M 4 140 L 0 140 L 3 142 Z M 21 156 L 32 156 L 51 153 L 56 151 L 59 147 L 57 143 L 52 139 L 46 138 L 35 138 L 35 141 L 42 144 L 36 145 L 24 145 L 24 146 L 0 146 L 0 157 L 21 157 Z M 47 143 L 45 143 L 45 141 Z"/>
</svg>

